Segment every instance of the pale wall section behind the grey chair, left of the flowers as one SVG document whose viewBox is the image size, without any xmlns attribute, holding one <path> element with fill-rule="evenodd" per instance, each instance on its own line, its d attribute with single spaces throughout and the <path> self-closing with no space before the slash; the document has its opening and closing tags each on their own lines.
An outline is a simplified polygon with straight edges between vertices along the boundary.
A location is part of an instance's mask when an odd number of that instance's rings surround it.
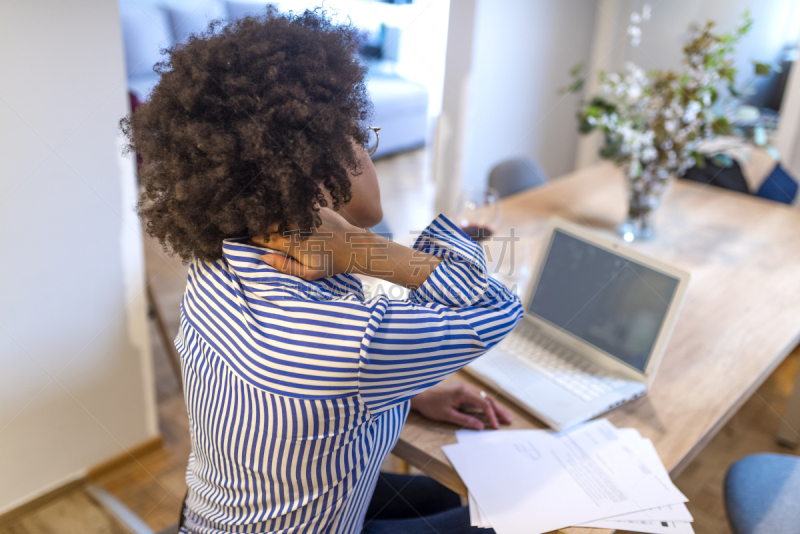
<svg viewBox="0 0 800 534">
<path fill-rule="evenodd" d="M 453 11 L 472 6 L 474 28 L 454 27 Z M 458 143 L 460 136 L 439 132 L 440 192 L 480 190 L 495 164 L 515 156 L 539 161 L 550 177 L 572 170 L 579 98 L 559 95 L 558 88 L 568 84 L 573 65 L 589 58 L 595 9 L 583 0 L 451 3 L 449 32 L 472 31 L 472 46 L 447 49 L 448 64 L 468 63 L 469 72 L 464 82 L 448 80 L 449 65 L 446 70 L 440 120 L 450 132 L 463 129 L 464 137 L 462 148 L 454 150 L 447 145 Z M 448 99 L 466 103 L 445 116 Z M 441 154 L 456 152 L 460 165 L 441 161 Z M 437 198 L 437 210 L 447 212 L 447 195 Z"/>
</svg>

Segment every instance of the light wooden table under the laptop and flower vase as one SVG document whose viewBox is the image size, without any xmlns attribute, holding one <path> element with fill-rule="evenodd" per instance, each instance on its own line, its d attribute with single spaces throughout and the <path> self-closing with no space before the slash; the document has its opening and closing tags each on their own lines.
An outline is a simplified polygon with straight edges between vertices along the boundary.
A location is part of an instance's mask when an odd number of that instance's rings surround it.
<svg viewBox="0 0 800 534">
<path fill-rule="evenodd" d="M 518 246 L 529 245 L 536 257 L 554 216 L 619 239 L 625 183 L 616 167 L 603 163 L 509 197 L 502 208 L 498 235 L 514 228 Z M 607 417 L 650 438 L 674 477 L 800 341 L 800 211 L 679 181 L 656 221 L 656 237 L 632 246 L 688 270 L 692 280 L 652 388 Z M 463 371 L 446 380 L 459 381 L 477 384 Z M 515 416 L 509 428 L 544 427 L 504 404 Z M 412 413 L 394 453 L 465 495 L 442 452 L 456 443 L 456 430 Z"/>
</svg>

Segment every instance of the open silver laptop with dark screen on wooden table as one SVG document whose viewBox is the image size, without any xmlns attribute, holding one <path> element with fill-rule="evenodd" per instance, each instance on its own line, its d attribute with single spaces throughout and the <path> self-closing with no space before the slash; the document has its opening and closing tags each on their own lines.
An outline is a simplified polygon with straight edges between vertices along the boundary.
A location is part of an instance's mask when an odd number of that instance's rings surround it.
<svg viewBox="0 0 800 534">
<path fill-rule="evenodd" d="M 647 391 L 689 273 L 561 220 L 538 263 L 524 319 L 465 370 L 562 430 Z"/>
</svg>

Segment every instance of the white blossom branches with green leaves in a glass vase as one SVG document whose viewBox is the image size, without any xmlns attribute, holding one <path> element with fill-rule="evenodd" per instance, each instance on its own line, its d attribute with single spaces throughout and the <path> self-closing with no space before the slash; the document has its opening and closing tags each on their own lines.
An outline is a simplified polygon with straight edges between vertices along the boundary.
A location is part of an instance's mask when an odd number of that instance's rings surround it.
<svg viewBox="0 0 800 534">
<path fill-rule="evenodd" d="M 628 27 L 632 45 L 641 39 L 639 23 L 649 18 L 648 6 L 632 14 Z M 600 93 L 578 112 L 579 131 L 602 132 L 600 156 L 626 171 L 629 213 L 620 228 L 626 239 L 652 236 L 649 216 L 672 177 L 705 165 L 698 152 L 700 141 L 731 133 L 722 102 L 739 96 L 732 56 L 752 24 L 746 12 L 742 24 L 731 33 L 713 33 L 713 22 L 694 28 L 691 41 L 683 48 L 681 72 L 645 72 L 631 62 L 621 73 L 600 72 Z M 756 63 L 756 74 L 769 70 L 769 66 Z M 582 72 L 582 66 L 573 69 L 575 80 L 563 91 L 579 91 Z"/>
</svg>

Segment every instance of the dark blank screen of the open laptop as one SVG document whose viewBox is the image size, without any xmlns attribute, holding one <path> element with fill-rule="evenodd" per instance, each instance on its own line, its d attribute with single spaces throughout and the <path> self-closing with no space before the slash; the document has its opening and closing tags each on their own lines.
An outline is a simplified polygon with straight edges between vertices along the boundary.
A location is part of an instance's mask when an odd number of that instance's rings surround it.
<svg viewBox="0 0 800 534">
<path fill-rule="evenodd" d="M 644 371 L 678 279 L 556 229 L 528 312 Z"/>
</svg>

